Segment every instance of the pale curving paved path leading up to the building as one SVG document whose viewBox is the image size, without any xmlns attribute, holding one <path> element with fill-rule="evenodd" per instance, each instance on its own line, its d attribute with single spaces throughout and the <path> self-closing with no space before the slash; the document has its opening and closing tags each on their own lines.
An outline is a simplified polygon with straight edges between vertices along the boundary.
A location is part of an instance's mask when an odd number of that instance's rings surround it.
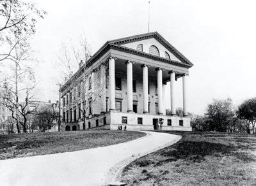
<svg viewBox="0 0 256 186">
<path fill-rule="evenodd" d="M 137 140 L 76 152 L 0 161 L 0 185 L 102 185 L 114 181 L 129 162 L 180 140 L 146 132 Z"/>
</svg>

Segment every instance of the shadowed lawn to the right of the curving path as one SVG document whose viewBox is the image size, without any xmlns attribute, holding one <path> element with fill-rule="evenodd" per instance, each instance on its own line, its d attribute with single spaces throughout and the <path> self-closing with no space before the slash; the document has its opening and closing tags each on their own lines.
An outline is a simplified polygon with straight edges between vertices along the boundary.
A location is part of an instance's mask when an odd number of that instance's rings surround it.
<svg viewBox="0 0 256 186">
<path fill-rule="evenodd" d="M 120 180 L 138 184 L 256 184 L 256 136 L 217 132 L 169 132 L 182 135 L 170 147 L 125 167 Z"/>
</svg>

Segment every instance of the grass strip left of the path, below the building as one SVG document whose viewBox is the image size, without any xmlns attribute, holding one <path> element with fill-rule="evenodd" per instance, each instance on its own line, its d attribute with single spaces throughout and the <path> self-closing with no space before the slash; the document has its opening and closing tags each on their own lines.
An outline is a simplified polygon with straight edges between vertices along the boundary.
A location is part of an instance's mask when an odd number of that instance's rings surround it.
<svg viewBox="0 0 256 186">
<path fill-rule="evenodd" d="M 106 130 L 0 135 L 0 159 L 103 147 L 142 136 L 144 132 Z"/>
</svg>

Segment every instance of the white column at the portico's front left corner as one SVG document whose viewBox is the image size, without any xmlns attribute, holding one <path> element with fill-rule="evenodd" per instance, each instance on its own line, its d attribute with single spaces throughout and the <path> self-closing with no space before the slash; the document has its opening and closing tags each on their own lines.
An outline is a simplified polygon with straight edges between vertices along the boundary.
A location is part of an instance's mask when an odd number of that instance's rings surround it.
<svg viewBox="0 0 256 186">
<path fill-rule="evenodd" d="M 115 59 L 109 57 L 109 110 L 115 109 Z"/>
</svg>

